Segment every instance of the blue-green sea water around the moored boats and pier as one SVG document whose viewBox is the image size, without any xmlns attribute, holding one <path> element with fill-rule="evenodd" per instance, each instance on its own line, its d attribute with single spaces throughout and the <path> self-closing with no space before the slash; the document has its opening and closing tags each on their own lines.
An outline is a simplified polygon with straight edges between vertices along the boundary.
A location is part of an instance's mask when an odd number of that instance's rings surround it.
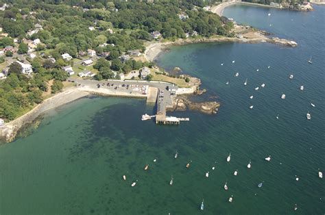
<svg viewBox="0 0 325 215">
<path fill-rule="evenodd" d="M 0 146 L 0 214 L 293 214 L 295 204 L 294 213 L 324 214 L 324 14 L 234 6 L 224 15 L 298 47 L 196 44 L 160 55 L 159 66 L 202 79 L 207 92 L 193 99 L 220 101 L 216 115 L 174 112 L 191 121 L 160 126 L 140 120 L 154 112 L 144 99 L 115 97 L 51 110 L 31 134 Z"/>
</svg>

